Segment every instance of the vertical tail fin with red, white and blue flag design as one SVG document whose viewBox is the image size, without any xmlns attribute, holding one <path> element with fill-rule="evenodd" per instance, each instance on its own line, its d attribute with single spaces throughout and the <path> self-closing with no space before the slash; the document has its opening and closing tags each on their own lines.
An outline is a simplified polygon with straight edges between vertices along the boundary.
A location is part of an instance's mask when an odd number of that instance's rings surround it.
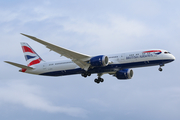
<svg viewBox="0 0 180 120">
<path fill-rule="evenodd" d="M 27 43 L 23 42 L 21 43 L 21 46 L 28 66 L 39 64 L 43 61 L 43 59 Z"/>
</svg>

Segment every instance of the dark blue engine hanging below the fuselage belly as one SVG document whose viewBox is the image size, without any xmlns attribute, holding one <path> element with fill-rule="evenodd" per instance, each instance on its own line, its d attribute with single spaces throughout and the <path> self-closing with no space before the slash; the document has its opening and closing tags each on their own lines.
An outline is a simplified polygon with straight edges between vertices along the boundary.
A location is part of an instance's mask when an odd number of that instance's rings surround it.
<svg viewBox="0 0 180 120">
<path fill-rule="evenodd" d="M 123 70 L 117 71 L 115 76 L 117 79 L 131 79 L 133 77 L 133 70 L 123 69 Z"/>
</svg>

